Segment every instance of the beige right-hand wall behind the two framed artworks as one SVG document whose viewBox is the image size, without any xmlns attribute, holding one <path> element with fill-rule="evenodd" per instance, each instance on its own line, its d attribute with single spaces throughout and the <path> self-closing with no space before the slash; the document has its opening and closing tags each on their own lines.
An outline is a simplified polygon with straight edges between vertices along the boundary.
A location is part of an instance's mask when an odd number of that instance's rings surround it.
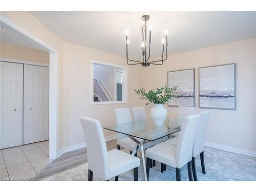
<svg viewBox="0 0 256 192">
<path fill-rule="evenodd" d="M 198 108 L 198 68 L 237 63 L 237 110 Z M 211 111 L 206 141 L 256 151 L 256 38 L 170 55 L 162 66 L 150 66 L 141 73 L 143 87 L 154 89 L 167 84 L 167 71 L 196 69 L 196 112 Z M 151 107 L 147 107 L 149 114 Z M 177 107 L 166 105 L 169 116 Z M 224 131 L 224 136 L 220 132 Z"/>
</svg>

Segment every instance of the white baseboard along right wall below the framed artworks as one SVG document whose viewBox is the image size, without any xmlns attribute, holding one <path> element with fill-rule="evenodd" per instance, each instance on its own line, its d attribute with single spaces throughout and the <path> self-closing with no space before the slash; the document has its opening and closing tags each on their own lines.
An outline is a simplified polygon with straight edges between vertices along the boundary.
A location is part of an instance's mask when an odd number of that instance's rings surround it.
<svg viewBox="0 0 256 192">
<path fill-rule="evenodd" d="M 242 148 L 236 148 L 236 147 L 232 147 L 232 146 L 211 143 L 211 142 L 204 142 L 204 146 L 211 147 L 211 148 L 217 148 L 218 150 L 223 150 L 226 152 L 232 152 L 232 153 L 237 153 L 237 154 L 246 155 L 246 156 L 250 156 L 250 157 L 256 157 L 256 152 L 244 150 Z"/>
</svg>

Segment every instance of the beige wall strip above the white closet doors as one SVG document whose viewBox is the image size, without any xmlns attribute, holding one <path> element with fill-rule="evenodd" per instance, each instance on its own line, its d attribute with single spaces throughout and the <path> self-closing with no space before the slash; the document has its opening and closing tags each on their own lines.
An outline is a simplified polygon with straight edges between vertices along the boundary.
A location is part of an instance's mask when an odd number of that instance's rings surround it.
<svg viewBox="0 0 256 192">
<path fill-rule="evenodd" d="M 0 44 L 0 57 L 49 64 L 48 52 L 7 43 Z"/>
</svg>

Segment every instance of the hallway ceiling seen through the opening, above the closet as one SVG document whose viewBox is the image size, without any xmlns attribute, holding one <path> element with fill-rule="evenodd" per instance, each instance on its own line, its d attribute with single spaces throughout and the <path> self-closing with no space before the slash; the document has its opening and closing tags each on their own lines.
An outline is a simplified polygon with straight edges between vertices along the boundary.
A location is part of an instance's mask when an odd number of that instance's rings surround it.
<svg viewBox="0 0 256 192">
<path fill-rule="evenodd" d="M 0 26 L 4 28 L 0 29 L 0 42 L 6 42 L 8 44 L 13 44 L 17 46 L 23 46 L 33 49 L 41 49 L 35 41 L 26 37 L 22 33 L 13 30 L 9 26 L 0 22 Z"/>
</svg>

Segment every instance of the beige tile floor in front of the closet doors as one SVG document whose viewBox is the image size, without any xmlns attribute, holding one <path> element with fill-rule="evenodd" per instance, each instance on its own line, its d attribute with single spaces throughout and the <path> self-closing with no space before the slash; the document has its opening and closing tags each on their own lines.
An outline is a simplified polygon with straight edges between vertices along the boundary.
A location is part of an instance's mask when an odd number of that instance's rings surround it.
<svg viewBox="0 0 256 192">
<path fill-rule="evenodd" d="M 49 163 L 49 141 L 0 150 L 0 181 L 31 180 Z"/>
</svg>

